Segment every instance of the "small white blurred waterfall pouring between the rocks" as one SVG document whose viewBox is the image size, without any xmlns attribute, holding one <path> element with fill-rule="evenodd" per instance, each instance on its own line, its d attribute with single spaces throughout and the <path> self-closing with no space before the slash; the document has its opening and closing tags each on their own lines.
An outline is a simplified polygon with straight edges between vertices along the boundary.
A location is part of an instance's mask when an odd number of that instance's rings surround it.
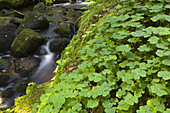
<svg viewBox="0 0 170 113">
<path fill-rule="evenodd" d="M 31 81 L 37 84 L 47 82 L 51 80 L 52 77 L 54 76 L 52 67 L 55 63 L 54 62 L 55 54 L 52 53 L 49 49 L 51 41 L 52 40 L 49 40 L 46 45 L 42 46 L 42 48 L 46 50 L 47 54 L 41 57 L 40 66 L 38 67 L 38 70 L 31 77 Z"/>
</svg>

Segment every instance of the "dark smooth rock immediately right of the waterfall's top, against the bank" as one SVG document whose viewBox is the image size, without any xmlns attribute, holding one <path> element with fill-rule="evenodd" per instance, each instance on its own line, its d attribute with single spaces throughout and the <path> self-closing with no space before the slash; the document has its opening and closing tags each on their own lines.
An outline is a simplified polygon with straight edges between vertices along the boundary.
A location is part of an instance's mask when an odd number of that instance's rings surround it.
<svg viewBox="0 0 170 113">
<path fill-rule="evenodd" d="M 68 44 L 70 40 L 68 38 L 59 38 L 51 42 L 50 50 L 52 52 L 61 52 Z"/>
</svg>

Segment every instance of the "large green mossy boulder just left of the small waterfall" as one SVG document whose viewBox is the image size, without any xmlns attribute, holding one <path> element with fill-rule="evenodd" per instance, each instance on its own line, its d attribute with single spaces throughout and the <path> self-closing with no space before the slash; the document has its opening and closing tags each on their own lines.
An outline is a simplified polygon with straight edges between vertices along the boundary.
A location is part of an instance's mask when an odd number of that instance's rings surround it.
<svg viewBox="0 0 170 113">
<path fill-rule="evenodd" d="M 42 43 L 44 38 L 31 29 L 24 29 L 12 43 L 12 51 L 15 56 L 28 56 Z"/>
</svg>

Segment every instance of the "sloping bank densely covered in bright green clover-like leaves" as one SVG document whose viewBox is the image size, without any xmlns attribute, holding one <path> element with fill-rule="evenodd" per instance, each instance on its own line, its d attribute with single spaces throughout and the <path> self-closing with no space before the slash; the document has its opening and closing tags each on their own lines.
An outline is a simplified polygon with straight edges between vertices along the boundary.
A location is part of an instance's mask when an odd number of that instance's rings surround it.
<svg viewBox="0 0 170 113">
<path fill-rule="evenodd" d="M 118 3 L 74 37 L 32 113 L 170 112 L 170 1 Z"/>
</svg>

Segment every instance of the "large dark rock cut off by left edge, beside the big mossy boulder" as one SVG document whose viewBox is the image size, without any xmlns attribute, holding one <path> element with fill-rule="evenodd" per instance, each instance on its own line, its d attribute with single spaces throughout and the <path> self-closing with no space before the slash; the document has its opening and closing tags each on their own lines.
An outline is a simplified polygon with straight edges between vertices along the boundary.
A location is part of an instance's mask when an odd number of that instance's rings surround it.
<svg viewBox="0 0 170 113">
<path fill-rule="evenodd" d="M 10 50 L 16 37 L 17 25 L 10 23 L 11 18 L 0 17 L 0 53 Z"/>
</svg>

